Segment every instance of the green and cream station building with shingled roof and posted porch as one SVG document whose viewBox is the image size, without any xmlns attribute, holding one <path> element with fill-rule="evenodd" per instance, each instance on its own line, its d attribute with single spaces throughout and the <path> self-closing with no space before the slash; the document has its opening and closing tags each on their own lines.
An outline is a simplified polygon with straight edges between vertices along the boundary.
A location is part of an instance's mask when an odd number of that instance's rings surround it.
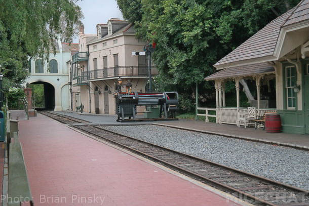
<svg viewBox="0 0 309 206">
<path fill-rule="evenodd" d="M 214 80 L 218 123 L 241 125 L 247 108 L 239 105 L 241 79 L 256 81 L 257 113 L 276 111 L 282 130 L 309 134 L 309 1 L 300 3 L 268 23 L 215 65 Z M 225 107 L 225 83 L 235 81 L 237 108 Z M 269 108 L 261 100 L 261 86 L 275 81 L 276 104 Z M 268 85 L 269 87 L 269 85 Z"/>
</svg>

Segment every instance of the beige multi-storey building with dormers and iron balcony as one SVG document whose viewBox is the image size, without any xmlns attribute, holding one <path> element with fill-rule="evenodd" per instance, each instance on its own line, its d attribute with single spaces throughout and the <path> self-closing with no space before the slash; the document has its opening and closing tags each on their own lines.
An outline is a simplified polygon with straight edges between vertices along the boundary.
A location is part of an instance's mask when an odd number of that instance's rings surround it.
<svg viewBox="0 0 309 206">
<path fill-rule="evenodd" d="M 89 113 L 113 115 L 119 78 L 122 90 L 146 90 L 146 56 L 132 56 L 132 52 L 142 52 L 146 43 L 136 38 L 132 23 L 120 19 L 97 24 L 96 31 L 85 34 L 82 27 L 79 52 L 71 56 L 72 105 L 83 104 Z M 157 73 L 152 68 L 151 74 Z"/>
</svg>

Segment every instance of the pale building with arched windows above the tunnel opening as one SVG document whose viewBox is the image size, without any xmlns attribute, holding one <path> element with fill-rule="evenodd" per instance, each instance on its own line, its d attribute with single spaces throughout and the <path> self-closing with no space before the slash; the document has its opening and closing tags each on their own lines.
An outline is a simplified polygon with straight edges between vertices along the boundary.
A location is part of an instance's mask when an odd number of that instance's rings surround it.
<svg viewBox="0 0 309 206">
<path fill-rule="evenodd" d="M 25 84 L 43 84 L 45 109 L 62 111 L 70 109 L 69 67 L 71 53 L 78 51 L 78 44 L 66 44 L 53 40 L 56 55 L 49 53 L 49 62 L 40 58 L 29 59 L 30 76 Z M 52 48 L 51 48 L 52 50 Z M 35 100 L 34 100 L 35 102 Z"/>
</svg>

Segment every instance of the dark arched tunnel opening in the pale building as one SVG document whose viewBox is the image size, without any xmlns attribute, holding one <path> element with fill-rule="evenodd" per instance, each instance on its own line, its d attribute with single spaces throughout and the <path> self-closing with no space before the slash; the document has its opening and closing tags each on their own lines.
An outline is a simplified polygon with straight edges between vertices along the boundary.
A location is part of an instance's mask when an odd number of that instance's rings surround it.
<svg viewBox="0 0 309 206">
<path fill-rule="evenodd" d="M 36 110 L 54 110 L 55 88 L 45 81 L 35 81 L 29 87 L 32 88 L 34 106 Z"/>
</svg>

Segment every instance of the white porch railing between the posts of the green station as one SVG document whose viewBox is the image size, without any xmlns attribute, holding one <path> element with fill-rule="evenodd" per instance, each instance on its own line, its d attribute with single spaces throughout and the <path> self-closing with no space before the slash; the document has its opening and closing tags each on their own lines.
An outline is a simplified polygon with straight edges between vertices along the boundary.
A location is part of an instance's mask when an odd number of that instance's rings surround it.
<svg viewBox="0 0 309 206">
<path fill-rule="evenodd" d="M 276 112 L 276 109 L 257 109 L 256 115 L 263 116 L 266 112 Z M 220 107 L 216 109 L 217 123 L 227 123 L 230 125 L 238 125 L 240 118 L 245 118 L 247 114 L 247 108 L 235 108 L 235 107 Z"/>
</svg>

